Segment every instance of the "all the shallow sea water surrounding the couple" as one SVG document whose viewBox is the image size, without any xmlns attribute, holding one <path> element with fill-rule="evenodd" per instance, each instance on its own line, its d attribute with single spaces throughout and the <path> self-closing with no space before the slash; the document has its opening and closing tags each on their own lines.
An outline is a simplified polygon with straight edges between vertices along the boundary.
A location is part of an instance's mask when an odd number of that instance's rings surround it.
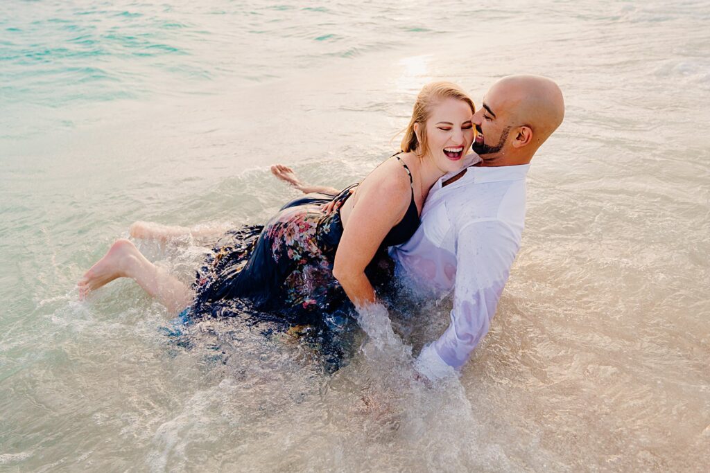
<svg viewBox="0 0 710 473">
<path fill-rule="evenodd" d="M 0 3 L 0 470 L 704 471 L 710 6 L 283 0 Z M 368 314 L 336 374 L 244 321 L 190 327 L 75 283 L 136 220 L 263 221 L 361 179 L 422 84 L 476 104 L 544 74 L 567 115 L 460 380 L 408 362 L 448 301 Z M 137 242 L 190 281 L 209 242 Z"/>
</svg>

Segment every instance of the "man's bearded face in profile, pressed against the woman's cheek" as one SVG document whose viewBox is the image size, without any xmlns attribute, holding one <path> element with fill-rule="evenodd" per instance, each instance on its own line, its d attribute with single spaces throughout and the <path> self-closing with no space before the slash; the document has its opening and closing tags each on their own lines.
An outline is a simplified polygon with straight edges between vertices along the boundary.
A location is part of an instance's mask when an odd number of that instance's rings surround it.
<svg viewBox="0 0 710 473">
<path fill-rule="evenodd" d="M 508 134 L 513 128 L 508 124 L 510 106 L 504 92 L 500 87 L 491 87 L 472 119 L 478 135 L 471 149 L 484 160 L 505 152 Z"/>
</svg>

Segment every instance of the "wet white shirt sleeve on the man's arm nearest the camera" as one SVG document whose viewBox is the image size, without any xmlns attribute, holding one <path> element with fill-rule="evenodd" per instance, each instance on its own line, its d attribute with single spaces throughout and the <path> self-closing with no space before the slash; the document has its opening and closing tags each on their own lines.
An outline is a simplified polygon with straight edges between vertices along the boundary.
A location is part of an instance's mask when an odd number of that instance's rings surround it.
<svg viewBox="0 0 710 473">
<path fill-rule="evenodd" d="M 422 350 L 417 360 L 422 374 L 436 378 L 469 359 L 488 333 L 519 247 L 515 231 L 498 220 L 475 221 L 459 230 L 451 323 Z"/>
</svg>

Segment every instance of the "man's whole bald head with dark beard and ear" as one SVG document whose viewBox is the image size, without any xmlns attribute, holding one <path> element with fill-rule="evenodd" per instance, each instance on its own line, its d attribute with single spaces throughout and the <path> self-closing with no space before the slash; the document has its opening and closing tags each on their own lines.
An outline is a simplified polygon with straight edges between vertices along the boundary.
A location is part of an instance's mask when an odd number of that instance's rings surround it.
<svg viewBox="0 0 710 473">
<path fill-rule="evenodd" d="M 564 99 L 546 77 L 503 77 L 484 96 L 474 113 L 479 135 L 471 149 L 483 166 L 524 165 L 564 118 Z"/>
</svg>

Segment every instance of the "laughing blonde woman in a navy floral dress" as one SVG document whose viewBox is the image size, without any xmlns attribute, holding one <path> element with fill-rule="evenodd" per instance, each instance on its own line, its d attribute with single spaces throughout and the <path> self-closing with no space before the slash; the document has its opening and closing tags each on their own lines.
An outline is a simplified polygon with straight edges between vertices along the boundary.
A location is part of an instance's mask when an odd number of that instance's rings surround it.
<svg viewBox="0 0 710 473">
<path fill-rule="evenodd" d="M 474 140 L 474 112 L 456 85 L 427 84 L 417 96 L 402 151 L 361 184 L 337 195 L 309 194 L 288 203 L 266 226 L 228 232 L 192 287 L 155 267 L 129 240 L 119 240 L 84 274 L 80 296 L 131 277 L 173 311 L 189 306 L 204 313 L 218 301 L 242 299 L 300 322 L 338 308 L 345 296 L 356 308 L 372 304 L 376 295 L 366 268 L 378 250 L 413 235 L 429 189 L 462 167 Z M 322 206 L 333 201 L 342 204 L 339 212 L 324 212 Z M 155 232 L 141 224 L 132 233 L 175 235 L 174 229 Z"/>
</svg>

